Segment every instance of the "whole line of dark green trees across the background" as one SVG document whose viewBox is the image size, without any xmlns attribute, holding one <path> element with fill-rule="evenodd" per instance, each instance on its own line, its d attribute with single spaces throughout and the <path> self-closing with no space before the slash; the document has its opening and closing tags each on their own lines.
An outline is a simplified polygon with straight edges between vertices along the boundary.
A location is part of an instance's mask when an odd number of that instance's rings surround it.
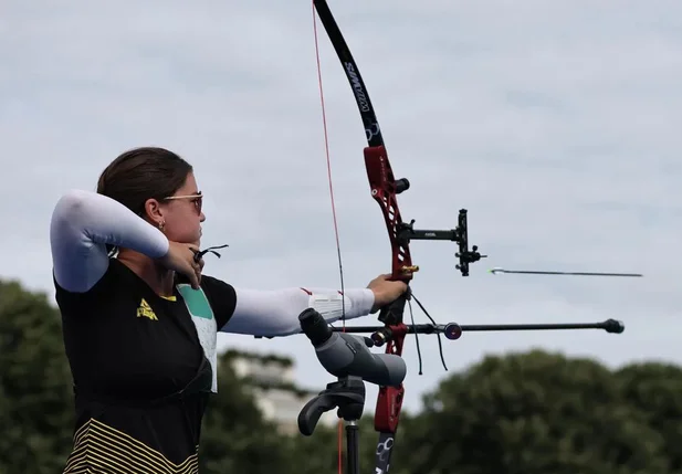
<svg viewBox="0 0 682 474">
<path fill-rule="evenodd" d="M 200 472 L 336 473 L 337 431 L 280 433 L 230 357 L 220 361 Z M 0 282 L 0 474 L 62 471 L 73 413 L 60 317 L 44 295 L 15 282 Z M 360 442 L 361 472 L 374 472 L 370 415 Z M 390 473 L 682 473 L 682 369 L 651 362 L 613 371 L 543 351 L 487 357 L 444 380 L 421 412 L 403 412 Z"/>
</svg>

